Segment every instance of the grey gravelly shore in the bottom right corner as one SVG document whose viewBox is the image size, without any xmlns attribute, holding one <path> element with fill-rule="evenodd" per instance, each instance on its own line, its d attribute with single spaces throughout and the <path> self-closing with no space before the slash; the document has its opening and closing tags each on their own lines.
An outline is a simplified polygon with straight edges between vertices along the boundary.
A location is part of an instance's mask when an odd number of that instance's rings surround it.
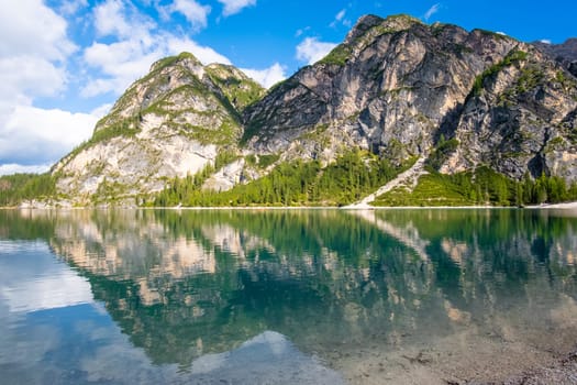
<svg viewBox="0 0 577 385">
<path fill-rule="evenodd" d="M 330 353 L 325 360 L 351 385 L 573 385 L 577 384 L 577 348 L 561 346 L 565 344 L 552 348 L 519 340 L 495 342 L 463 331 L 455 341 L 442 339 L 439 345 L 397 352 L 367 348 L 347 352 L 344 359 L 341 353 Z"/>
</svg>

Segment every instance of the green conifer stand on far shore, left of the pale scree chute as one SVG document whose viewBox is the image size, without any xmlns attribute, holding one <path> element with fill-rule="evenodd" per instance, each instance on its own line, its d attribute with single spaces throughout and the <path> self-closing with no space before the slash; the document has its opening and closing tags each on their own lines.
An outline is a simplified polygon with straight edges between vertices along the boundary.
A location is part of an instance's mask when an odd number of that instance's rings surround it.
<svg viewBox="0 0 577 385">
<path fill-rule="evenodd" d="M 319 161 L 281 162 L 266 176 L 221 193 L 202 189 L 201 170 L 174 178 L 154 206 L 342 206 L 373 193 L 402 169 L 356 150 L 324 168 Z"/>
</svg>

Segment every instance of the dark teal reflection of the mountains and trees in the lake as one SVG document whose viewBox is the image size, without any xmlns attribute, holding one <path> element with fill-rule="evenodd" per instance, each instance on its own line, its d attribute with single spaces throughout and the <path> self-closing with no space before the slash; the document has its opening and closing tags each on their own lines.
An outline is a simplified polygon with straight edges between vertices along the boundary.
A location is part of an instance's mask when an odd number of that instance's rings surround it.
<svg viewBox="0 0 577 385">
<path fill-rule="evenodd" d="M 577 218 L 553 212 L 1 216 L 2 238 L 46 242 L 130 343 L 153 365 L 176 364 L 181 380 L 217 381 L 217 371 L 226 381 L 337 383 L 325 366 L 346 370 L 365 350 L 434 345 L 473 329 L 542 343 L 531 330 L 577 316 Z"/>
</svg>

